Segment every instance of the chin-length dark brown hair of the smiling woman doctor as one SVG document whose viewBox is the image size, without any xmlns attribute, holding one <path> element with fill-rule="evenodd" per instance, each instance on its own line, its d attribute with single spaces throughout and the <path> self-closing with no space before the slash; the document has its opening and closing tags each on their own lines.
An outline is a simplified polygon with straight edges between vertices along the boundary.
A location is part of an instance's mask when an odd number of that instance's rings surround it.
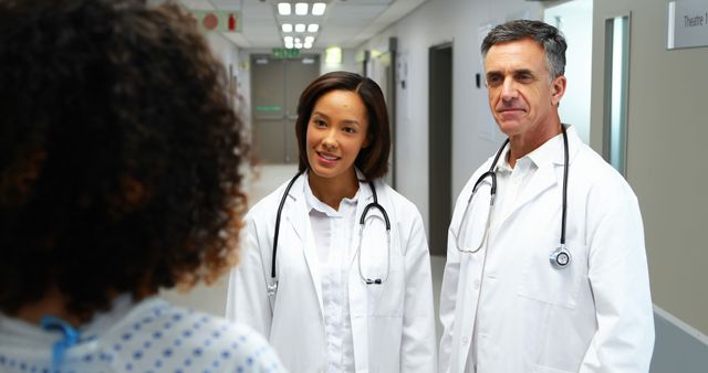
<svg viewBox="0 0 708 373">
<path fill-rule="evenodd" d="M 364 173 L 366 180 L 374 180 L 388 171 L 388 153 L 391 152 L 391 131 L 388 129 L 388 111 L 381 87 L 374 81 L 355 73 L 332 72 L 312 82 L 300 95 L 298 104 L 298 149 L 300 150 L 300 171 L 310 168 L 308 161 L 308 122 L 317 99 L 332 90 L 350 90 L 357 94 L 366 106 L 368 116 L 369 143 L 360 150 L 354 164 Z"/>
</svg>

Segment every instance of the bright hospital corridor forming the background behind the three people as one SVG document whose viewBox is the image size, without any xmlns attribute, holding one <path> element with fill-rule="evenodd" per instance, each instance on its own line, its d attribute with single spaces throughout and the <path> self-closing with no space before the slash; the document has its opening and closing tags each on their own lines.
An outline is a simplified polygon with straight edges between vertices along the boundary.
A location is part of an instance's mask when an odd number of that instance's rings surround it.
<svg viewBox="0 0 708 373">
<path fill-rule="evenodd" d="M 331 0 L 322 20 L 298 19 L 294 2 L 288 4 L 293 15 L 279 13 L 285 4 L 270 0 L 181 3 L 199 14 L 240 15 L 240 32 L 208 35 L 252 126 L 258 166 L 249 171 L 251 204 L 296 172 L 292 128 L 308 82 L 345 70 L 381 85 L 394 139 L 385 180 L 423 214 L 438 341 L 449 217 L 473 170 L 504 139 L 487 106 L 479 44 L 491 26 L 512 19 L 558 26 L 569 40 L 561 118 L 638 196 L 656 327 L 650 372 L 706 371 L 708 292 L 701 284 L 708 251 L 699 222 L 708 211 L 700 192 L 708 180 L 696 156 L 708 135 L 699 109 L 708 86 L 700 73 L 708 63 L 708 28 L 686 29 L 677 15 L 705 12 L 706 2 Z M 277 40 L 267 42 L 270 34 Z M 684 42 L 695 47 L 681 47 Z M 222 277 L 212 289 L 168 297 L 220 313 L 227 283 Z"/>
</svg>

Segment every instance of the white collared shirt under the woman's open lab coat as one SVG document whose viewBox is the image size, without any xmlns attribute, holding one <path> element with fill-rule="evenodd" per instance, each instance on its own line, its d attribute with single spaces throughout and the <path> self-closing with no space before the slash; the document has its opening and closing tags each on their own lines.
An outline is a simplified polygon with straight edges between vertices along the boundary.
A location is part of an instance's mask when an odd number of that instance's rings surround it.
<svg viewBox="0 0 708 373">
<path fill-rule="evenodd" d="M 348 271 L 360 191 L 343 199 L 339 211 L 320 201 L 305 178 L 305 202 L 317 247 L 327 372 L 354 372 L 354 339 L 350 318 Z"/>
</svg>

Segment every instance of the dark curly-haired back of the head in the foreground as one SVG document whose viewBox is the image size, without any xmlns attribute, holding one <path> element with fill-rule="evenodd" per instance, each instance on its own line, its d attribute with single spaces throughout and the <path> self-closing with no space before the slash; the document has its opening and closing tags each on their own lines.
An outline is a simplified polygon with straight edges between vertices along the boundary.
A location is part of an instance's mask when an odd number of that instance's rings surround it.
<svg viewBox="0 0 708 373">
<path fill-rule="evenodd" d="M 0 0 L 0 311 L 59 290 L 86 320 L 233 264 L 241 124 L 189 17 Z"/>
</svg>

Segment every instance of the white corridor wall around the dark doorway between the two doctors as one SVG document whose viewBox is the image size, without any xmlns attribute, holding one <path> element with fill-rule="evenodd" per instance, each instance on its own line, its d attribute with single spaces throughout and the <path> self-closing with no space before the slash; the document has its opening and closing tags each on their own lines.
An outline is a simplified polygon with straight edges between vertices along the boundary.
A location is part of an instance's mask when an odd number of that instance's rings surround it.
<svg viewBox="0 0 708 373">
<path fill-rule="evenodd" d="M 523 0 L 428 0 L 358 51 L 398 39 L 406 89 L 397 85 L 397 189 L 420 210 L 428 226 L 428 49 L 452 43 L 452 195 L 499 147 L 502 137 L 489 114 L 487 90 L 475 86 L 482 73 L 478 29 L 517 18 L 540 19 L 538 2 Z M 480 136 L 485 128 L 489 136 Z M 455 201 L 450 201 L 452 204 Z"/>
</svg>

